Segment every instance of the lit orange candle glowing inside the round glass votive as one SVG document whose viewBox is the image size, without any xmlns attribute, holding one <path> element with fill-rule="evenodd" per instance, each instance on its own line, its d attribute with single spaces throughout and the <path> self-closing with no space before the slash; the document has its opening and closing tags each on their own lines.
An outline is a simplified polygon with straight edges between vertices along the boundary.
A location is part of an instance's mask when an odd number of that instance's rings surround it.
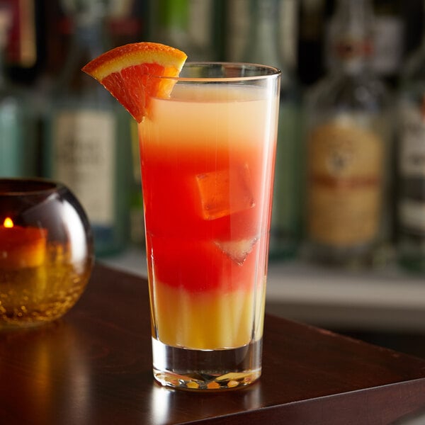
<svg viewBox="0 0 425 425">
<path fill-rule="evenodd" d="M 37 267 L 45 260 L 47 230 L 21 227 L 6 217 L 0 226 L 0 270 Z"/>
</svg>

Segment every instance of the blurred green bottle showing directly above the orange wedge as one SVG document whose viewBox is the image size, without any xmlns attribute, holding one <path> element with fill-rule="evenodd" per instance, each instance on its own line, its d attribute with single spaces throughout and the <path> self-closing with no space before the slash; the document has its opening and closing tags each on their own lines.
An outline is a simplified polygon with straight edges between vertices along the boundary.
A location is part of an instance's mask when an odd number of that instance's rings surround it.
<svg viewBox="0 0 425 425">
<path fill-rule="evenodd" d="M 157 0 L 150 3 L 152 40 L 176 47 L 188 60 L 212 60 L 210 0 Z"/>
</svg>

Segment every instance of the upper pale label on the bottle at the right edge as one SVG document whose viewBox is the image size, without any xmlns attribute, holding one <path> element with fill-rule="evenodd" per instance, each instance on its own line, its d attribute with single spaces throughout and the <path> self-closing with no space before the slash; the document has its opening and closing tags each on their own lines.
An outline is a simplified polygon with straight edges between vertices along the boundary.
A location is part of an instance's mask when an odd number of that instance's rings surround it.
<svg viewBox="0 0 425 425">
<path fill-rule="evenodd" d="M 400 173 L 404 177 L 425 177 L 425 119 L 423 111 L 404 103 L 401 115 Z"/>
</svg>

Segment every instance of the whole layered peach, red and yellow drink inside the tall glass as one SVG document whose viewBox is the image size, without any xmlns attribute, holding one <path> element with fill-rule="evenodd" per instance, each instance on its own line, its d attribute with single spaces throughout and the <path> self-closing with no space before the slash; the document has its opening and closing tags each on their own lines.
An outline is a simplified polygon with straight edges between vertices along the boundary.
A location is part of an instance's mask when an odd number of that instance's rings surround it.
<svg viewBox="0 0 425 425">
<path fill-rule="evenodd" d="M 205 96 L 207 92 L 207 97 Z M 139 125 L 154 337 L 231 348 L 260 339 L 274 135 L 246 87 L 180 89 Z"/>
</svg>

